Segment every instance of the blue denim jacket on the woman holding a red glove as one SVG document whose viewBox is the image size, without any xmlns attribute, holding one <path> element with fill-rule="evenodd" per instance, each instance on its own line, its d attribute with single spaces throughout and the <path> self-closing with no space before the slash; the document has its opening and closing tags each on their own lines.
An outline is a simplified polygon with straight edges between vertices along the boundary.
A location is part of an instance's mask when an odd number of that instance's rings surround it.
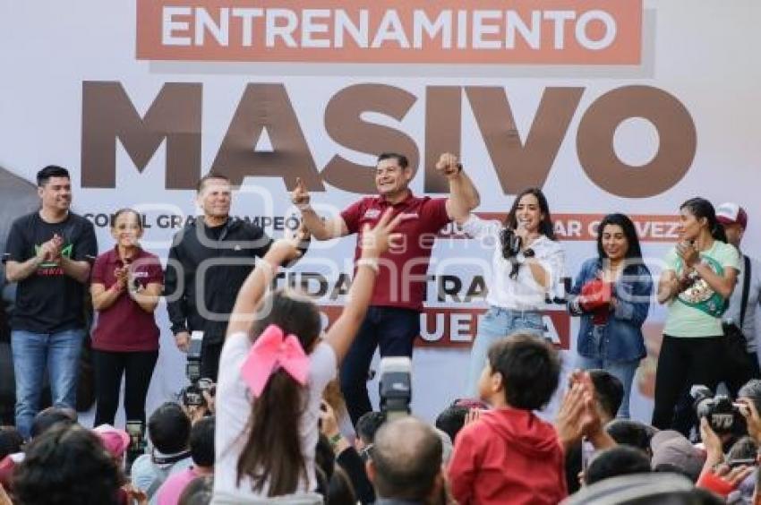
<svg viewBox="0 0 761 505">
<path fill-rule="evenodd" d="M 616 297 L 616 310 L 610 313 L 603 328 L 605 338 L 605 355 L 598 355 L 594 347 L 592 314 L 581 310 L 575 303 L 577 295 L 590 280 L 597 277 L 600 261 L 597 258 L 586 260 L 581 266 L 576 281 L 571 287 L 569 312 L 581 316 L 578 330 L 577 353 L 589 358 L 604 358 L 611 361 L 632 361 L 645 357 L 645 341 L 642 337 L 642 324 L 647 319 L 650 309 L 650 297 L 653 294 L 653 278 L 650 270 L 643 264 L 635 272 L 627 271 L 613 286 Z M 629 270 L 632 270 L 629 268 Z"/>
</svg>

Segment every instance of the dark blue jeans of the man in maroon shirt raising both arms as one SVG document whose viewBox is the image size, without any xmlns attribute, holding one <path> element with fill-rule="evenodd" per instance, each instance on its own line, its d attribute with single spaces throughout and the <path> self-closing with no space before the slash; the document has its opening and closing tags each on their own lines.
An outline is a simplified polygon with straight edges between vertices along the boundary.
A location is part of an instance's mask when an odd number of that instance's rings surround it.
<svg viewBox="0 0 761 505">
<path fill-rule="evenodd" d="M 367 310 L 340 370 L 341 391 L 353 425 L 356 426 L 359 418 L 372 410 L 367 380 L 375 349 L 380 347 L 381 357 L 412 357 L 412 347 L 418 335 L 420 312 L 374 305 Z"/>
</svg>

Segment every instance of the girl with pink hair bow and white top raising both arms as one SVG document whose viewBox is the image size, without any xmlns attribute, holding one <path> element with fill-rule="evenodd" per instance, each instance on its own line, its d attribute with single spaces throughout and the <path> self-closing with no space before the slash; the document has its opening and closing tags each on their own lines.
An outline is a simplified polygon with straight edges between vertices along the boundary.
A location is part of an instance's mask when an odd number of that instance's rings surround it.
<svg viewBox="0 0 761 505">
<path fill-rule="evenodd" d="M 278 266 L 299 255 L 295 240 L 273 244 L 244 282 L 219 363 L 215 503 L 282 496 L 322 502 L 314 466 L 322 391 L 363 321 L 379 256 L 398 240 L 392 231 L 399 218 L 391 212 L 363 230 L 346 306 L 322 336 L 309 298 L 292 290 L 266 293 Z"/>
</svg>

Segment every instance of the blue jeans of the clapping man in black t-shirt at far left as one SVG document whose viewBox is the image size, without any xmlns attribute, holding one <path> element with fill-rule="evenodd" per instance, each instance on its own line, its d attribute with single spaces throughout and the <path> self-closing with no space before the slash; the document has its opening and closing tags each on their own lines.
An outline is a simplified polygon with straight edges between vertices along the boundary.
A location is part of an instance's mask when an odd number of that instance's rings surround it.
<svg viewBox="0 0 761 505">
<path fill-rule="evenodd" d="M 16 429 L 25 439 L 30 437 L 31 424 L 39 410 L 46 368 L 53 406 L 76 407 L 82 338 L 82 329 L 57 333 L 11 332 L 16 376 Z"/>
</svg>

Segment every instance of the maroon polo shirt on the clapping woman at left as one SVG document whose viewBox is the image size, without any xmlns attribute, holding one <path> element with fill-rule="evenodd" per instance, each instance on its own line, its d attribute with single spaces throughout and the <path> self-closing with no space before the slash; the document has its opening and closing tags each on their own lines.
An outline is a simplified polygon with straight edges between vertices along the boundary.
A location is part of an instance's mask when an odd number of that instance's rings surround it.
<svg viewBox="0 0 761 505">
<path fill-rule="evenodd" d="M 132 263 L 135 281 L 142 287 L 164 283 L 164 271 L 155 254 L 139 249 Z M 106 289 L 112 287 L 116 283 L 114 270 L 123 265 L 116 249 L 104 252 L 92 266 L 92 283 L 102 284 Z M 98 321 L 92 330 L 92 348 L 124 352 L 158 350 L 156 319 L 124 290 L 113 305 L 98 312 Z"/>
</svg>

